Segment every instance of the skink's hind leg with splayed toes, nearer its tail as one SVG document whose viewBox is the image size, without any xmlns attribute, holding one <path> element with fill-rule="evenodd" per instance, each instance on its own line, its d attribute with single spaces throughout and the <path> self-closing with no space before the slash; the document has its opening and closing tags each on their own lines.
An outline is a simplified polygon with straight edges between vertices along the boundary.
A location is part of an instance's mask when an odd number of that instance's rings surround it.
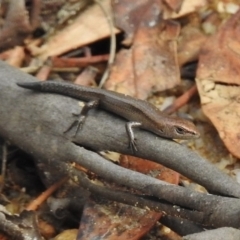
<svg viewBox="0 0 240 240">
<path fill-rule="evenodd" d="M 90 101 L 90 102 L 87 102 L 80 113 L 73 113 L 74 116 L 77 116 L 78 119 L 75 120 L 71 125 L 70 127 L 64 131 L 64 133 L 66 132 L 69 132 L 74 126 L 77 126 L 76 127 L 76 131 L 75 131 L 75 134 L 74 134 L 74 137 L 77 135 L 78 131 L 82 129 L 82 126 L 86 120 L 86 117 L 87 117 L 87 113 L 89 110 L 97 107 L 99 105 L 99 100 L 93 100 L 93 101 Z"/>
</svg>

